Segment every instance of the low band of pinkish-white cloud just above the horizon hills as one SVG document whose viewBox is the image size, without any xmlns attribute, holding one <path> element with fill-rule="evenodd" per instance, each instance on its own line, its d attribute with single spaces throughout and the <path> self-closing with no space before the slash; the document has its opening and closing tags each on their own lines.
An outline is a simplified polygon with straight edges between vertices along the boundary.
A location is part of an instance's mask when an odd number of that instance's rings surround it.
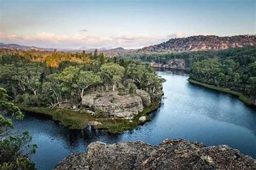
<svg viewBox="0 0 256 170">
<path fill-rule="evenodd" d="M 0 32 L 0 41 L 3 43 L 16 43 L 37 47 L 52 48 L 79 48 L 86 46 L 89 48 L 99 47 L 124 47 L 124 48 L 142 48 L 145 46 L 159 44 L 170 38 L 185 37 L 185 34 L 169 34 L 167 36 L 140 36 L 126 34 L 123 36 L 102 37 L 98 35 L 85 34 L 53 34 L 48 32 L 38 32 L 18 36 L 15 34 L 6 34 Z"/>
</svg>

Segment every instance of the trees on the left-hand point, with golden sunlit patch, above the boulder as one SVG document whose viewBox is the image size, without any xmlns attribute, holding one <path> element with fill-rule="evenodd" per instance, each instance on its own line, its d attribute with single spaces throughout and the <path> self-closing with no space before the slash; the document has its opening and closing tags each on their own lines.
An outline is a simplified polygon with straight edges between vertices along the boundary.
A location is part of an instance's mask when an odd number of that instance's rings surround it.
<svg viewBox="0 0 256 170">
<path fill-rule="evenodd" d="M 105 58 L 102 53 L 3 52 L 0 86 L 10 99 L 26 106 L 56 107 L 79 103 L 95 90 L 139 88 L 157 96 L 164 80 L 150 65 L 135 60 Z"/>
</svg>

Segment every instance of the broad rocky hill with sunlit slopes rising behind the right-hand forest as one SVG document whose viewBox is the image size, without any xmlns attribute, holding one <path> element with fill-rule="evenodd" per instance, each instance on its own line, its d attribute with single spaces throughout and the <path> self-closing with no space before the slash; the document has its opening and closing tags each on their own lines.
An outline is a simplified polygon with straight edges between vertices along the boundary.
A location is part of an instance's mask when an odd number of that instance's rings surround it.
<svg viewBox="0 0 256 170">
<path fill-rule="evenodd" d="M 256 36 L 192 36 L 186 38 L 174 38 L 158 45 L 138 49 L 137 53 L 192 52 L 244 46 L 256 46 Z"/>
</svg>

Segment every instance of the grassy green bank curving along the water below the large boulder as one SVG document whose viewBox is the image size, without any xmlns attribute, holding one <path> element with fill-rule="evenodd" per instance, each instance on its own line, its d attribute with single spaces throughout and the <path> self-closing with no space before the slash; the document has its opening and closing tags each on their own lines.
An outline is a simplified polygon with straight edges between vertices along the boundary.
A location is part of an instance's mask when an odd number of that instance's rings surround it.
<svg viewBox="0 0 256 170">
<path fill-rule="evenodd" d="M 150 112 L 157 110 L 160 102 L 152 101 L 149 107 L 145 107 L 143 111 L 135 115 L 131 120 L 120 118 L 96 118 L 95 116 L 83 110 L 71 109 L 49 109 L 41 107 L 26 107 L 20 103 L 15 103 L 22 111 L 30 112 L 33 116 L 47 116 L 54 121 L 59 122 L 60 125 L 70 129 L 85 129 L 91 121 L 99 122 L 93 126 L 95 129 L 102 129 L 110 133 L 122 133 L 125 130 L 132 130 L 141 124 L 139 117 L 145 116 L 146 121 L 150 121 Z"/>
</svg>

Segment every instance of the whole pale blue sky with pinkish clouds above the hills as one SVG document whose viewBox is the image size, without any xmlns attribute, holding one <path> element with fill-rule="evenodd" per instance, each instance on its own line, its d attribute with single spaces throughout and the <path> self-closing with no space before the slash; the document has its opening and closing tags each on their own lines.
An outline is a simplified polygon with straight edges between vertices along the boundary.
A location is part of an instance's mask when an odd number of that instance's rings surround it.
<svg viewBox="0 0 256 170">
<path fill-rule="evenodd" d="M 141 48 L 170 38 L 256 33 L 256 0 L 0 0 L 0 42 Z"/>
</svg>

